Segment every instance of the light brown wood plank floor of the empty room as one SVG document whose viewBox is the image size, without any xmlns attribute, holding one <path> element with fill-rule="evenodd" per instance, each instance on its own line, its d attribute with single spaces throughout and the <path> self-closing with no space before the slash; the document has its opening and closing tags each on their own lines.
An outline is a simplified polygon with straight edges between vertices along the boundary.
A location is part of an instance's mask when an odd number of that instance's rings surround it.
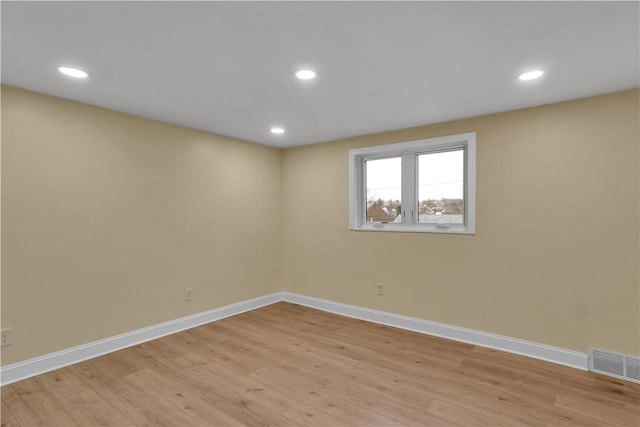
<svg viewBox="0 0 640 427">
<path fill-rule="evenodd" d="M 640 386 L 278 303 L 2 387 L 2 426 L 634 426 Z"/>
</svg>

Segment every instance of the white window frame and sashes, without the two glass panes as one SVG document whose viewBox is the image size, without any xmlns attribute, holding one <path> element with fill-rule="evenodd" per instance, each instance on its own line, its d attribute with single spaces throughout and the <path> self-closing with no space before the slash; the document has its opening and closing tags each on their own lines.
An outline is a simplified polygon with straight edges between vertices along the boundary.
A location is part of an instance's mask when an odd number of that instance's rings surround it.
<svg viewBox="0 0 640 427">
<path fill-rule="evenodd" d="M 464 224 L 417 222 L 417 159 L 420 154 L 464 149 Z M 402 222 L 366 222 L 365 161 L 402 156 Z M 364 231 L 476 233 L 475 132 L 349 150 L 349 228 Z"/>
</svg>

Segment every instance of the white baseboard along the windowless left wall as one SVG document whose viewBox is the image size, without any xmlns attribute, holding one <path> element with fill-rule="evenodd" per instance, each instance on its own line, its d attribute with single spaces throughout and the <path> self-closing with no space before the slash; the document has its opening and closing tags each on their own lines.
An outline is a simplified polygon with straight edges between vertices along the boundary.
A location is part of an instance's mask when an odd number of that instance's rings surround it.
<svg viewBox="0 0 640 427">
<path fill-rule="evenodd" d="M 265 305 L 270 305 L 278 301 L 282 301 L 281 292 L 240 301 L 235 304 L 7 365 L 0 369 L 0 384 L 11 384 L 35 375 L 53 371 L 54 369 L 63 368 L 73 365 L 74 363 L 122 350 L 136 344 L 244 313 L 245 311 L 264 307 Z"/>
</svg>

